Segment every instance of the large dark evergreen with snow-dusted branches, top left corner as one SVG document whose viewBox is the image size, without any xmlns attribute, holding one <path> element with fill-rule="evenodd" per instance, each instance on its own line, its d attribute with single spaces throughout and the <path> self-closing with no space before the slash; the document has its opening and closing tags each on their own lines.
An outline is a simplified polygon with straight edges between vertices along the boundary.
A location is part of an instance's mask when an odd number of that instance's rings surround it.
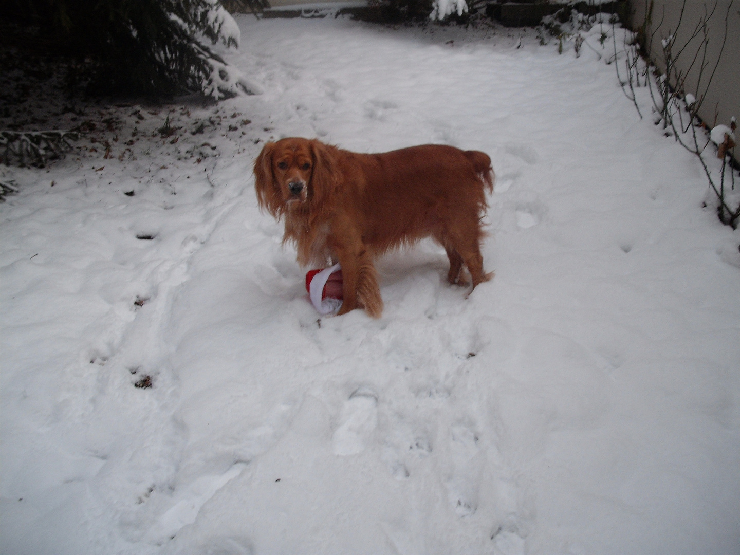
<svg viewBox="0 0 740 555">
<path fill-rule="evenodd" d="M 261 0 L 253 0 L 255 5 Z M 77 63 L 76 83 L 94 93 L 154 96 L 249 88 L 214 47 L 239 44 L 239 28 L 218 0 L 30 0 L 42 33 Z"/>
</svg>

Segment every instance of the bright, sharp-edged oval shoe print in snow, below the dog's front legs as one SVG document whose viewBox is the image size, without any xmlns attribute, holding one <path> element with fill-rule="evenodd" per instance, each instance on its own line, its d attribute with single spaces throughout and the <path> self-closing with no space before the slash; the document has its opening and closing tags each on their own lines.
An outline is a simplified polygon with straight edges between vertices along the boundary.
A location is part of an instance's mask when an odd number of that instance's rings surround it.
<svg viewBox="0 0 740 555">
<path fill-rule="evenodd" d="M 377 428 L 377 395 L 371 388 L 360 387 L 346 400 L 332 435 L 332 451 L 346 457 L 364 451 Z"/>
</svg>

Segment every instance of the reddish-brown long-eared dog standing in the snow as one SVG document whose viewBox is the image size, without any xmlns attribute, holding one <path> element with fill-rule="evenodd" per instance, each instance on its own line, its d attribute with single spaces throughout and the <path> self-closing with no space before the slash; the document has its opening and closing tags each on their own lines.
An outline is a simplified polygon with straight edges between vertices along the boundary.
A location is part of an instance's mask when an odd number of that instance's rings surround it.
<svg viewBox="0 0 740 555">
<path fill-rule="evenodd" d="M 285 218 L 283 242 L 297 246 L 301 266 L 342 266 L 339 314 L 383 312 L 374 259 L 388 249 L 432 237 L 450 259 L 450 283 L 463 263 L 473 287 L 483 272 L 481 218 L 493 192 L 491 158 L 477 150 L 425 144 L 357 154 L 305 138 L 267 143 L 255 160 L 260 209 Z"/>
</svg>

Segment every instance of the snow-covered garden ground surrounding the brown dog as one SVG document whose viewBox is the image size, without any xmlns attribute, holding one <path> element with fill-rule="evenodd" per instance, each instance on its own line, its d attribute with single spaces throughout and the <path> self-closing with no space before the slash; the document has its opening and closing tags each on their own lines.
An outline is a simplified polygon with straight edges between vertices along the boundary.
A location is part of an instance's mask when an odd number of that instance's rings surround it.
<svg viewBox="0 0 740 555">
<path fill-rule="evenodd" d="M 1 553 L 740 553 L 740 235 L 601 30 L 238 21 L 261 94 L 1 170 Z M 488 152 L 494 280 L 421 243 L 319 318 L 253 189 L 290 135 Z"/>
</svg>

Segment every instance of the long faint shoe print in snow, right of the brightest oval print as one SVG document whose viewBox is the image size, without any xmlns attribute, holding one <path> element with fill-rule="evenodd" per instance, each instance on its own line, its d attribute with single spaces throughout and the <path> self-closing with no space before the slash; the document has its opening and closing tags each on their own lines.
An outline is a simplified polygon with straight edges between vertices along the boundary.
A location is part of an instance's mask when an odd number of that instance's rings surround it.
<svg viewBox="0 0 740 555">
<path fill-rule="evenodd" d="M 445 482 L 448 499 L 460 517 L 470 517 L 478 509 L 478 493 L 483 471 L 483 455 L 478 436 L 465 424 L 450 428 L 451 476 Z"/>
</svg>

